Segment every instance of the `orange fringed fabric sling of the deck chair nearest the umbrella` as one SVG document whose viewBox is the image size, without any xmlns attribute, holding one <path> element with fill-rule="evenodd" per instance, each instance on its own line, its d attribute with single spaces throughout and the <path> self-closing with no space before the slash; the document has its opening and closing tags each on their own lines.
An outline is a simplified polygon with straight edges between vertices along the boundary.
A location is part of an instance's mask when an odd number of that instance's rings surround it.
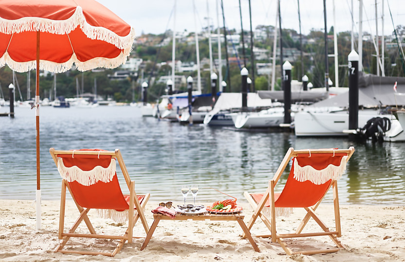
<svg viewBox="0 0 405 262">
<path fill-rule="evenodd" d="M 129 195 L 124 195 L 121 191 L 114 158 L 103 155 L 74 155 L 74 152 L 72 156 L 58 155 L 58 157 L 60 157 L 58 171 L 62 178 L 69 182 L 71 193 L 80 206 L 97 209 L 100 217 L 111 218 L 120 223 L 126 222 L 128 216 L 119 215 L 119 212 L 129 209 Z M 138 199 L 141 202 L 143 196 L 139 195 Z"/>
</svg>

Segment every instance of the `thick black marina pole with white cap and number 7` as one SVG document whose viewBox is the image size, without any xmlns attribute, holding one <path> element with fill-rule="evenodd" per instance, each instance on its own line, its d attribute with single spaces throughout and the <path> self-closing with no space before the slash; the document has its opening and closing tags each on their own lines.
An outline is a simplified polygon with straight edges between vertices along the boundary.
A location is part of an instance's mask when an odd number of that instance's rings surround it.
<svg viewBox="0 0 405 262">
<path fill-rule="evenodd" d="M 358 128 L 359 113 L 359 55 L 352 50 L 349 60 L 349 129 Z M 354 139 L 354 135 L 349 136 Z"/>
</svg>

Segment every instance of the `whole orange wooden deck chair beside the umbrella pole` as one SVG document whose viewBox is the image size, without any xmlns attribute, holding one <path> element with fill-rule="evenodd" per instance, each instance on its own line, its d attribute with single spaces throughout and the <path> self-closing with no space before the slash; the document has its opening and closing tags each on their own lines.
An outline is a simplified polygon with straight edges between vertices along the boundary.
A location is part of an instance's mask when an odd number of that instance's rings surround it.
<svg viewBox="0 0 405 262">
<path fill-rule="evenodd" d="M 119 149 L 115 151 L 100 149 L 61 151 L 51 148 L 49 151 L 62 176 L 58 233 L 58 238 L 61 241 L 54 252 L 83 255 L 101 254 L 114 257 L 122 249 L 125 241 L 132 243 L 133 227 L 138 219 L 141 219 L 145 233 L 148 233 L 149 226 L 146 222 L 143 210 L 150 194 L 136 194 L 135 182 L 131 181 L 128 175 Z M 126 185 L 129 189 L 129 195 L 123 194 L 121 191 L 116 173 L 116 160 L 121 167 Z M 69 190 L 80 212 L 79 217 L 68 232 L 64 231 L 66 189 Z M 123 235 L 97 234 L 88 218 L 88 211 L 91 209 L 96 209 L 99 216 L 111 218 L 117 223 L 125 223 L 127 221 L 128 227 L 125 233 Z M 88 227 L 88 234 L 75 233 L 75 230 L 82 221 L 84 221 Z M 119 243 L 111 253 L 63 249 L 71 237 L 116 239 L 119 240 Z"/>
</svg>

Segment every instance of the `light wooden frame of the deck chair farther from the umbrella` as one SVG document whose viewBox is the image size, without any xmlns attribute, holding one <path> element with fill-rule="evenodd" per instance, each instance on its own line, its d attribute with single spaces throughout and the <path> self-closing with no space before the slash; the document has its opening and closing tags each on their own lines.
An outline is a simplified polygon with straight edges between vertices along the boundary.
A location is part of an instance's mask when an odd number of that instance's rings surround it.
<svg viewBox="0 0 405 262">
<path fill-rule="evenodd" d="M 277 227 L 276 227 L 276 210 L 275 210 L 275 195 L 274 195 L 274 187 L 279 181 L 284 169 L 287 167 L 288 162 L 292 157 L 297 157 L 300 154 L 308 154 L 309 149 L 305 150 L 294 150 L 294 148 L 289 148 L 285 157 L 283 158 L 276 174 L 274 175 L 273 179 L 270 179 L 268 182 L 268 187 L 266 192 L 264 193 L 261 201 L 257 203 L 251 193 L 244 192 L 245 197 L 249 204 L 255 208 L 252 217 L 250 218 L 249 222 L 247 223 L 247 228 L 251 230 L 253 224 L 255 223 L 256 219 L 260 217 L 264 222 L 264 225 L 270 230 L 270 234 L 267 235 L 256 235 L 257 237 L 264 237 L 264 238 L 271 238 L 271 242 L 275 243 L 278 242 L 285 253 L 287 255 L 293 254 L 304 254 L 304 255 L 311 255 L 311 254 L 320 254 L 320 253 L 333 253 L 337 252 L 338 250 L 344 248 L 341 245 L 340 241 L 337 237 L 341 237 L 341 226 L 340 226 L 340 212 L 339 212 L 339 198 L 337 192 L 337 182 L 336 180 L 332 180 L 329 188 L 325 191 L 321 199 L 312 207 L 305 207 L 304 209 L 307 211 L 305 217 L 303 218 L 302 222 L 300 223 L 299 227 L 296 229 L 295 233 L 288 233 L 288 234 L 278 234 Z M 350 147 L 349 149 L 311 149 L 310 154 L 337 154 L 337 153 L 344 153 L 347 154 L 346 162 L 352 157 L 354 153 L 354 148 Z M 329 192 L 330 188 L 333 188 L 333 202 L 334 202 L 334 211 L 335 211 L 335 230 L 331 231 L 317 216 L 315 211 L 317 210 L 319 204 L 321 203 L 322 199 Z M 264 215 L 263 209 L 265 203 L 269 199 L 270 202 L 270 218 Z M 316 223 L 322 228 L 323 231 L 321 232 L 312 232 L 312 233 L 302 233 L 302 230 L 307 225 L 310 218 L 313 218 Z M 293 252 L 285 243 L 285 238 L 298 238 L 298 237 L 314 237 L 314 236 L 329 236 L 332 241 L 335 243 L 336 248 L 330 249 L 316 249 L 316 250 L 303 250 L 303 251 L 296 251 Z"/>
</svg>

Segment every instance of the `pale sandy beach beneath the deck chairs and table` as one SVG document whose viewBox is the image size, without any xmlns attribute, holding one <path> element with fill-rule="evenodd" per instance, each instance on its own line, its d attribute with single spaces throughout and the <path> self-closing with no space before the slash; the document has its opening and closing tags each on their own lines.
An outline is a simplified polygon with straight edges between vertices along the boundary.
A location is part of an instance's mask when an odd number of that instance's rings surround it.
<svg viewBox="0 0 405 262">
<path fill-rule="evenodd" d="M 253 210 L 246 201 L 238 203 L 244 208 L 245 223 Z M 268 239 L 254 237 L 261 252 L 255 252 L 247 239 L 242 239 L 242 229 L 235 222 L 218 221 L 161 221 L 148 246 L 140 251 L 143 239 L 125 244 L 114 258 L 53 253 L 58 244 L 59 201 L 42 201 L 42 229 L 35 224 L 35 206 L 28 200 L 0 200 L 0 261 L 405 261 L 405 206 L 341 205 L 343 236 L 339 238 L 346 247 L 337 253 L 287 256 L 278 244 Z M 175 203 L 176 204 L 176 203 Z M 206 203 L 211 204 L 211 203 Z M 150 210 L 158 203 L 149 201 L 145 215 L 149 226 L 153 216 Z M 333 206 L 321 205 L 317 212 L 332 227 Z M 67 225 L 77 218 L 78 211 L 72 200 L 67 202 Z M 288 217 L 277 220 L 279 228 L 293 230 L 298 226 L 303 212 L 296 209 Z M 96 231 L 124 232 L 125 228 L 98 218 L 89 212 Z M 308 228 L 315 227 L 309 224 Z M 86 232 L 85 227 L 79 231 Z M 141 223 L 134 228 L 134 236 L 144 236 Z M 252 234 L 265 232 L 261 221 L 255 223 Z M 291 246 L 333 247 L 328 237 L 298 239 Z M 90 247 L 110 252 L 116 245 L 109 240 L 74 239 L 67 246 Z"/>
</svg>

